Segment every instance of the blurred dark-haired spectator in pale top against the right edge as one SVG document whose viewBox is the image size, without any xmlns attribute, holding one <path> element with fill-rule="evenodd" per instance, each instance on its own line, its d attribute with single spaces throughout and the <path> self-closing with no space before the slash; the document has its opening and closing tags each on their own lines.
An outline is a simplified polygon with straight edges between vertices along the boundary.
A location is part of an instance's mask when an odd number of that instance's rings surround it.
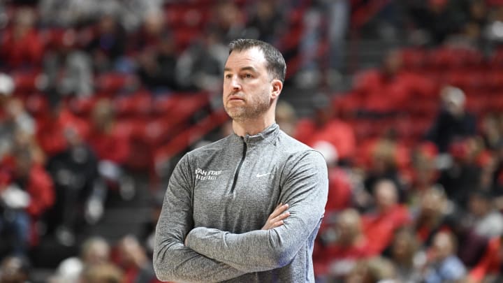
<svg viewBox="0 0 503 283">
<path fill-rule="evenodd" d="M 495 210 L 493 196 L 487 191 L 473 191 L 469 196 L 469 215 L 474 232 L 486 238 L 503 235 L 503 216 Z"/>
</svg>

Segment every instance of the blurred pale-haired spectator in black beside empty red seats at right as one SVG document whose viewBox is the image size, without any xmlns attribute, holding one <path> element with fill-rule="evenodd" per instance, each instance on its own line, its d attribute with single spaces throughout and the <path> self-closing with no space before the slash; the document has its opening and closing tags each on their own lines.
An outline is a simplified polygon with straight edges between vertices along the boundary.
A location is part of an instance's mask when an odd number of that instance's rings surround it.
<svg viewBox="0 0 503 283">
<path fill-rule="evenodd" d="M 442 110 L 437 115 L 426 139 L 447 152 L 455 140 L 474 136 L 476 133 L 475 117 L 465 109 L 465 93 L 457 87 L 443 87 L 440 96 Z"/>
</svg>

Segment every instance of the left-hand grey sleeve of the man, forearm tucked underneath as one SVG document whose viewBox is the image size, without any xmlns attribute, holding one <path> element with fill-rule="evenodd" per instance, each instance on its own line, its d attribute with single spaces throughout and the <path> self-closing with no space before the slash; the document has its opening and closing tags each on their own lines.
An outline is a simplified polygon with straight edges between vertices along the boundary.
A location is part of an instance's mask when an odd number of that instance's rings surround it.
<svg viewBox="0 0 503 283">
<path fill-rule="evenodd" d="M 244 273 L 184 246 L 194 226 L 188 156 L 177 164 L 170 178 L 156 226 L 154 270 L 159 280 L 176 282 L 219 282 Z"/>
</svg>

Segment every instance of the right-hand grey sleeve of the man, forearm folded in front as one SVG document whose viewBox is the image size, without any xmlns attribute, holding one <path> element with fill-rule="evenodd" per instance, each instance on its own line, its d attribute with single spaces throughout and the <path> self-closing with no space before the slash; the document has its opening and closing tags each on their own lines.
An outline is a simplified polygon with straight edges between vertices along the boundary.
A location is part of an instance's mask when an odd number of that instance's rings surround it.
<svg viewBox="0 0 503 283">
<path fill-rule="evenodd" d="M 187 246 L 246 273 L 286 266 L 316 237 L 328 194 L 325 160 L 312 150 L 291 157 L 282 179 L 280 201 L 290 212 L 284 225 L 240 234 L 197 227 L 187 235 Z"/>
</svg>

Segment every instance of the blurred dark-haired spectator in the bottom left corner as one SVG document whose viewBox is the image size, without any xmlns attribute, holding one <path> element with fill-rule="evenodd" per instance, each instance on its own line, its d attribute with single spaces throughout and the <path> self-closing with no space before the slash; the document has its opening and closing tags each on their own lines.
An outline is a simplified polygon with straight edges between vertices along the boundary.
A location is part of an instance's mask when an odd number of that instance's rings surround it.
<svg viewBox="0 0 503 283">
<path fill-rule="evenodd" d="M 27 283 L 30 270 L 27 259 L 20 256 L 7 256 L 1 261 L 0 283 Z"/>
</svg>

